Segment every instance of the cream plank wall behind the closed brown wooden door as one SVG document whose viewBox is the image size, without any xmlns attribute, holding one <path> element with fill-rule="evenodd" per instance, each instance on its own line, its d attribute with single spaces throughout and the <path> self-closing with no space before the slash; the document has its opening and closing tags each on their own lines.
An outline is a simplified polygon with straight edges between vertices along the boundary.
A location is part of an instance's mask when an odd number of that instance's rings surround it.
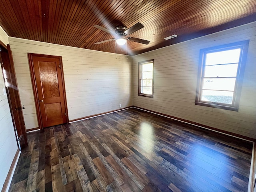
<svg viewBox="0 0 256 192">
<path fill-rule="evenodd" d="M 38 127 L 28 53 L 62 56 L 69 120 L 132 106 L 132 57 L 9 38 L 26 129 Z"/>
</svg>

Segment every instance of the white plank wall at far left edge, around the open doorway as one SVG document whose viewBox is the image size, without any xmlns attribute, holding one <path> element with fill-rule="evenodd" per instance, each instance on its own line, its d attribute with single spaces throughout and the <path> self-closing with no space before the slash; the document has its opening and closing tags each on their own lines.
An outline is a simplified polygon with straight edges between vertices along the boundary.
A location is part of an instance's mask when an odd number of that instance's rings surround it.
<svg viewBox="0 0 256 192">
<path fill-rule="evenodd" d="M 0 27 L 0 41 L 4 44 L 8 40 L 8 36 Z M 12 160 L 18 149 L 15 139 L 14 128 L 12 124 L 12 116 L 7 100 L 4 94 L 4 77 L 2 69 L 0 70 L 0 191 L 2 190 L 4 181 L 9 172 Z"/>
</svg>

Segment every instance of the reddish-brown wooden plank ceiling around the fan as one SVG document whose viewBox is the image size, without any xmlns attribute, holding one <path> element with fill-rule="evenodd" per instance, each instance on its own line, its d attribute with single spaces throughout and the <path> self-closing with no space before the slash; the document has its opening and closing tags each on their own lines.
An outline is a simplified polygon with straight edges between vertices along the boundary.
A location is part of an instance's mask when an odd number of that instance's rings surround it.
<svg viewBox="0 0 256 192">
<path fill-rule="evenodd" d="M 144 28 L 130 36 L 150 40 L 148 45 L 128 41 L 135 55 L 212 32 L 256 21 L 255 0 L 1 0 L 0 25 L 9 36 L 115 52 L 114 38 L 93 25 L 109 30 Z M 177 34 L 178 37 L 164 40 Z M 125 46 L 117 52 L 126 54 Z"/>
</svg>

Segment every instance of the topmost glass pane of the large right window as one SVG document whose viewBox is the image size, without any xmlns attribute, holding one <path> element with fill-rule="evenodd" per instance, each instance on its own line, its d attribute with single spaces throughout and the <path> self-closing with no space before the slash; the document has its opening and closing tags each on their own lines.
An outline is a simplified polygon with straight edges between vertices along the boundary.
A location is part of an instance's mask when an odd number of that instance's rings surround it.
<svg viewBox="0 0 256 192">
<path fill-rule="evenodd" d="M 238 63 L 241 49 L 232 49 L 206 54 L 205 65 Z"/>
</svg>

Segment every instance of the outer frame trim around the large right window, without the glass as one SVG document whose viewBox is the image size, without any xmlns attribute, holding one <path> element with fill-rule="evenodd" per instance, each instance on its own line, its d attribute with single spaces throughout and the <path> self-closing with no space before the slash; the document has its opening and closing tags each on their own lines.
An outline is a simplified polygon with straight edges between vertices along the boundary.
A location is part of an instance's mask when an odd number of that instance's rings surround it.
<svg viewBox="0 0 256 192">
<path fill-rule="evenodd" d="M 221 46 L 214 46 L 214 47 L 200 50 L 198 79 L 197 79 L 197 88 L 196 88 L 196 102 L 195 102 L 196 105 L 238 111 L 239 101 L 240 101 L 240 96 L 242 91 L 243 78 L 244 78 L 244 70 L 246 65 L 246 57 L 248 52 L 248 45 L 249 45 L 249 40 L 245 40 L 245 41 L 224 44 Z M 212 52 L 224 51 L 224 50 L 231 50 L 234 48 L 241 48 L 241 54 L 238 62 L 238 69 L 236 74 L 236 82 L 235 82 L 232 104 L 202 101 L 200 98 L 202 94 L 202 84 L 204 79 L 203 72 L 205 68 L 206 54 L 212 53 Z"/>
</svg>

